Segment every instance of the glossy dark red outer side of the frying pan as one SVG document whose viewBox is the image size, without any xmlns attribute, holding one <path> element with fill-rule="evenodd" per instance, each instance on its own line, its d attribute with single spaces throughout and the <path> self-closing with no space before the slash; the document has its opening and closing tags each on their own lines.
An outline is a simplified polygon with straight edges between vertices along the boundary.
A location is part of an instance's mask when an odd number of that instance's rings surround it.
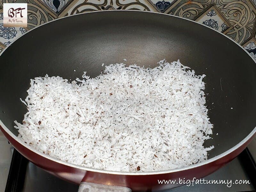
<svg viewBox="0 0 256 192">
<path fill-rule="evenodd" d="M 20 154 L 25 156 L 32 163 L 43 168 L 45 171 L 50 172 L 61 179 L 76 184 L 79 184 L 82 181 L 86 181 L 105 185 L 124 186 L 131 188 L 133 191 L 158 191 L 180 186 L 180 184 L 158 184 L 158 180 L 179 181 L 179 179 L 184 178 L 186 178 L 186 180 L 192 180 L 194 177 L 196 179 L 203 178 L 204 176 L 211 174 L 212 172 L 222 167 L 224 164 L 233 160 L 246 148 L 246 146 L 253 138 L 252 136 L 242 146 L 229 153 L 228 155 L 223 156 L 222 158 L 217 159 L 211 163 L 204 164 L 192 169 L 165 174 L 116 175 L 86 171 L 52 161 L 21 145 L 17 140 L 13 139 L 7 132 L 5 132 L 1 126 L 0 129 L 4 133 L 5 137 L 9 140 L 9 142 L 12 143 L 13 147 L 20 152 Z"/>
</svg>

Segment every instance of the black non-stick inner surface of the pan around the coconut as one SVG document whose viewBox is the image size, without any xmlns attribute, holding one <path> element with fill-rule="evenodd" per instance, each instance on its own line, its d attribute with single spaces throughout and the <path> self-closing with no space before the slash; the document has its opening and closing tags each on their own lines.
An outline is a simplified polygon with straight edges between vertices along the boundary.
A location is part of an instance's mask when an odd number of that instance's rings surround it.
<svg viewBox="0 0 256 192">
<path fill-rule="evenodd" d="M 17 135 L 13 121 L 21 122 L 27 111 L 20 98 L 27 96 L 31 78 L 48 74 L 74 80 L 83 71 L 94 77 L 104 69 L 102 63 L 124 58 L 125 64 L 145 67 L 180 59 L 206 75 L 206 105 L 214 128 L 205 146 L 215 146 L 209 157 L 232 148 L 255 127 L 256 64 L 247 52 L 195 22 L 135 11 L 79 14 L 16 40 L 0 56 L 0 119 Z"/>
</svg>

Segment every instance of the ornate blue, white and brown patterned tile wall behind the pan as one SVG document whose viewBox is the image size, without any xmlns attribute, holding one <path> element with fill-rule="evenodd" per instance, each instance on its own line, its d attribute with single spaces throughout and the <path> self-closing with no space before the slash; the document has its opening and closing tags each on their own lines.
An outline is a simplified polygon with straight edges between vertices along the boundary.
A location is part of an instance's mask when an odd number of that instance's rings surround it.
<svg viewBox="0 0 256 192">
<path fill-rule="evenodd" d="M 3 3 L 28 3 L 28 27 L 3 27 Z M 45 22 L 115 9 L 162 12 L 195 20 L 234 39 L 256 60 L 256 0 L 0 0 L 0 52 Z"/>
</svg>

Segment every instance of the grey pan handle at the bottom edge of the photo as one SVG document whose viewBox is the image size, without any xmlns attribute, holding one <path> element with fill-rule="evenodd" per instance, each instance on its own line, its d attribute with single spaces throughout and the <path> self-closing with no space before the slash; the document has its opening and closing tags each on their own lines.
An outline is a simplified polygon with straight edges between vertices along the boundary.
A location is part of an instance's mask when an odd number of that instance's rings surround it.
<svg viewBox="0 0 256 192">
<path fill-rule="evenodd" d="M 112 185 L 100 185 L 96 183 L 81 182 L 78 192 L 131 192 L 127 187 L 118 187 Z"/>
</svg>

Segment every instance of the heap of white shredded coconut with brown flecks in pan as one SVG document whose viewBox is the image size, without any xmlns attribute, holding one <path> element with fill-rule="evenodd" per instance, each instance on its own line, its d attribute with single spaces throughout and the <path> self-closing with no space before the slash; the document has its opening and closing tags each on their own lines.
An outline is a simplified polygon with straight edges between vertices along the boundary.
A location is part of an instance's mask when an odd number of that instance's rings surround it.
<svg viewBox="0 0 256 192">
<path fill-rule="evenodd" d="M 25 99 L 19 138 L 76 165 L 112 171 L 157 171 L 207 159 L 212 124 L 204 106 L 205 75 L 180 61 L 156 68 L 105 66 L 71 83 L 36 77 Z"/>
</svg>

